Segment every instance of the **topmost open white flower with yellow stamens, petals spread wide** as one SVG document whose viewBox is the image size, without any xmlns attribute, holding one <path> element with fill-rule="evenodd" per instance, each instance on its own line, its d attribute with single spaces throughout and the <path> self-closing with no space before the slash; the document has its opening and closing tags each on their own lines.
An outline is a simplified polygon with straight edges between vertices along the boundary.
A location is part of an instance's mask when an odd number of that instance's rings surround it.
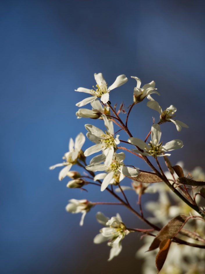
<svg viewBox="0 0 205 274">
<path fill-rule="evenodd" d="M 92 95 L 92 97 L 85 98 L 83 101 L 77 103 L 76 106 L 85 106 L 88 103 L 91 103 L 92 101 L 96 100 L 97 98 L 100 98 L 100 100 L 104 104 L 106 104 L 109 101 L 110 90 L 122 86 L 128 80 L 126 76 L 122 74 L 117 76 L 115 82 L 110 87 L 107 87 L 108 84 L 106 83 L 106 80 L 104 79 L 102 73 L 95 73 L 94 77 L 95 81 L 97 82 L 97 88 L 93 86 L 94 89 L 86 89 L 84 87 L 79 87 L 78 89 L 75 89 L 75 91 L 85 92 Z"/>
</svg>

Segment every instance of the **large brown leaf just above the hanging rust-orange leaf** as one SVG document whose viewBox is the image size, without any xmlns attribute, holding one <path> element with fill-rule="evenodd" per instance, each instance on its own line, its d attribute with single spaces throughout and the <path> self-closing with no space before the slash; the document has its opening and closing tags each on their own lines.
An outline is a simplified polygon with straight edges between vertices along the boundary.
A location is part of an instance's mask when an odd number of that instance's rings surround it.
<svg viewBox="0 0 205 274">
<path fill-rule="evenodd" d="M 159 247 L 160 243 L 163 240 L 172 239 L 179 232 L 186 219 L 187 216 L 183 214 L 172 218 L 156 235 L 148 251 L 154 250 Z"/>
</svg>

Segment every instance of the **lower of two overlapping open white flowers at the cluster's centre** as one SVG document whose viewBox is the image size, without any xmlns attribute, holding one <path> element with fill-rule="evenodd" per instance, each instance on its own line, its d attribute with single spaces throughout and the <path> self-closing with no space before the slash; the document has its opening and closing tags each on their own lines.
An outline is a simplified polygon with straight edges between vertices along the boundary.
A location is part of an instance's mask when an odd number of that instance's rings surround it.
<svg viewBox="0 0 205 274">
<path fill-rule="evenodd" d="M 140 173 L 138 169 L 125 166 L 123 163 L 124 158 L 125 154 L 120 152 L 115 154 L 109 166 L 105 164 L 91 164 L 86 166 L 86 169 L 90 171 L 106 171 L 108 173 L 106 175 L 105 173 L 103 174 L 103 177 L 105 177 L 101 184 L 101 191 L 104 191 L 109 184 L 113 184 L 114 182 L 119 183 L 124 176 L 136 177 Z M 102 176 L 102 173 L 96 175 L 95 180 L 99 180 L 99 176 Z"/>
</svg>

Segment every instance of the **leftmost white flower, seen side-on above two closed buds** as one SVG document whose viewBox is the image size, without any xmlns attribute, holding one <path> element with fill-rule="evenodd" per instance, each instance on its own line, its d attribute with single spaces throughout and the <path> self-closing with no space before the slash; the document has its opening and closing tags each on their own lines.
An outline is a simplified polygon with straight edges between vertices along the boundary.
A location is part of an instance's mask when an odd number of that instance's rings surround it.
<svg viewBox="0 0 205 274">
<path fill-rule="evenodd" d="M 72 165 L 77 163 L 78 157 L 81 156 L 81 148 L 85 143 L 85 136 L 80 133 L 75 138 L 75 143 L 72 138 L 70 138 L 68 149 L 69 151 L 65 153 L 63 156 L 64 161 L 63 163 L 56 164 L 54 166 L 50 166 L 49 169 L 54 169 L 58 166 L 65 166 L 59 173 L 58 179 L 61 181 L 67 175 L 68 171 L 71 169 Z"/>
</svg>

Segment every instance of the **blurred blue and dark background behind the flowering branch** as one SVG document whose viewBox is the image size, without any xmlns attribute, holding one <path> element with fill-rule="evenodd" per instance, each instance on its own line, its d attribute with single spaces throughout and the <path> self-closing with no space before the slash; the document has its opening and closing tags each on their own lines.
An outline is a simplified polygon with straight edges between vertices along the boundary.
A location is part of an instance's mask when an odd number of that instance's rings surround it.
<svg viewBox="0 0 205 274">
<path fill-rule="evenodd" d="M 184 161 L 188 170 L 205 168 L 204 1 L 8 0 L 0 5 L 0 273 L 140 273 L 135 258 L 140 235 L 126 237 L 121 254 L 107 262 L 110 248 L 93 244 L 101 228 L 95 214 L 119 212 L 130 227 L 145 224 L 126 209 L 104 205 L 93 208 L 80 227 L 81 214 L 65 211 L 69 199 L 115 200 L 95 186 L 88 186 L 88 193 L 66 188 L 68 179 L 58 181 L 60 168 L 49 166 L 61 162 L 70 137 L 86 134 L 85 123 L 102 127 L 99 121 L 76 119 L 75 104 L 86 94 L 74 92 L 91 88 L 93 74 L 102 72 L 108 85 L 120 74 L 129 79 L 110 93 L 113 105 L 132 103 L 131 75 L 142 84 L 155 80 L 161 96 L 153 97 L 163 109 L 176 106 L 177 119 L 190 127 L 177 132 L 173 124 L 162 126 L 164 141 L 184 142 L 170 160 Z M 129 121 L 139 138 L 147 136 L 152 116 L 158 119 L 146 102 L 133 108 Z M 86 140 L 83 148 L 90 145 Z M 138 159 L 131 164 L 147 169 Z M 137 208 L 136 194 L 127 195 Z M 147 194 L 142 202 L 151 198 Z"/>
</svg>

